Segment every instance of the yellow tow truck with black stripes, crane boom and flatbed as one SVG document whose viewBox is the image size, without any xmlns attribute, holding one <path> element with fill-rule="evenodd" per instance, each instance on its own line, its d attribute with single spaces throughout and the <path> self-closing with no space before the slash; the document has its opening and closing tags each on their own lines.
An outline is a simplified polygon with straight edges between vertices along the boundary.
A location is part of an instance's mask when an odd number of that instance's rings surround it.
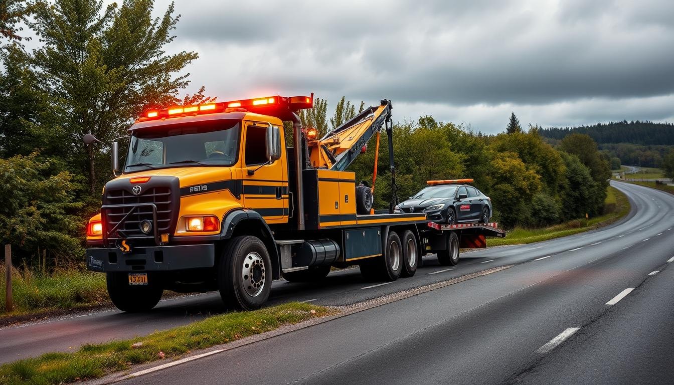
<svg viewBox="0 0 674 385">
<path fill-rule="evenodd" d="M 152 309 L 168 289 L 220 291 L 228 307 L 257 309 L 281 277 L 321 280 L 330 266 L 359 265 L 369 280 L 396 280 L 413 276 L 424 254 L 456 264 L 460 247 L 505 236 L 496 224 L 447 227 L 424 213 L 393 213 L 389 100 L 323 138 L 299 118 L 312 107 L 313 94 L 154 109 L 129 128 L 123 167 L 121 140 L 111 144 L 116 177 L 89 220 L 86 258 L 89 270 L 106 273 L 116 307 Z M 383 213 L 372 210 L 374 185 L 357 186 L 345 171 L 373 136 L 378 152 L 382 132 L 394 191 Z"/>
</svg>

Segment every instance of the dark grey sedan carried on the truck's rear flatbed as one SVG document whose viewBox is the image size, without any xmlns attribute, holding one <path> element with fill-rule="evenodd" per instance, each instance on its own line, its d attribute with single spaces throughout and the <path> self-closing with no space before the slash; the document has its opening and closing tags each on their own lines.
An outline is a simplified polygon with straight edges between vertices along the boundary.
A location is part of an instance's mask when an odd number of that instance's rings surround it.
<svg viewBox="0 0 674 385">
<path fill-rule="evenodd" d="M 398 204 L 394 212 L 425 212 L 429 220 L 443 225 L 489 223 L 491 199 L 471 185 L 452 181 L 429 181 L 417 195 Z"/>
</svg>

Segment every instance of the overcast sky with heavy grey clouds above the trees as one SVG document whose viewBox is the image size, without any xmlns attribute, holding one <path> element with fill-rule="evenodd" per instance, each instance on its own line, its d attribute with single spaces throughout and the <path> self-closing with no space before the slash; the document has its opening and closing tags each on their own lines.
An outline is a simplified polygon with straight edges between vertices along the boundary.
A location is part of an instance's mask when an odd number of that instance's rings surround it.
<svg viewBox="0 0 674 385">
<path fill-rule="evenodd" d="M 168 0 L 156 1 L 156 12 Z M 189 92 L 393 101 L 474 131 L 674 121 L 674 1 L 179 0 Z"/>
</svg>

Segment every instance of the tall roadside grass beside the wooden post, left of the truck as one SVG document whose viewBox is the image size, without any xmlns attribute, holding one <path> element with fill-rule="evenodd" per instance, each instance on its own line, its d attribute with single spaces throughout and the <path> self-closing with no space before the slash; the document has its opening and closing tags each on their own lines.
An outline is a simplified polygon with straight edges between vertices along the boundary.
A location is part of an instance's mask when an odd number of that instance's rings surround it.
<svg viewBox="0 0 674 385">
<path fill-rule="evenodd" d="M 5 312 L 5 266 L 0 265 L 0 317 L 45 309 L 71 309 L 109 301 L 105 274 L 79 269 L 52 273 L 12 269 L 14 312 Z"/>
</svg>

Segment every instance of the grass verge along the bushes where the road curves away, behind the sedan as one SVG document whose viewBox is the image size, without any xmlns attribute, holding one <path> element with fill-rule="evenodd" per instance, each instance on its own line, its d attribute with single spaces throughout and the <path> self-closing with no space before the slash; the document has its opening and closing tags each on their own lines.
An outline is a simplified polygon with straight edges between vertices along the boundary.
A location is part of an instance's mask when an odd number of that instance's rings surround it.
<svg viewBox="0 0 674 385">
<path fill-rule="evenodd" d="M 582 233 L 583 231 L 610 225 L 630 212 L 630 202 L 627 201 L 625 194 L 621 193 L 615 187 L 609 186 L 604 206 L 607 214 L 602 216 L 596 216 L 588 220 L 570 220 L 543 229 L 516 228 L 512 231 L 508 231 L 508 235 L 505 238 L 489 239 L 487 244 L 489 246 L 520 245 L 522 243 L 533 243 L 566 237 L 567 235 L 574 235 Z"/>
</svg>

